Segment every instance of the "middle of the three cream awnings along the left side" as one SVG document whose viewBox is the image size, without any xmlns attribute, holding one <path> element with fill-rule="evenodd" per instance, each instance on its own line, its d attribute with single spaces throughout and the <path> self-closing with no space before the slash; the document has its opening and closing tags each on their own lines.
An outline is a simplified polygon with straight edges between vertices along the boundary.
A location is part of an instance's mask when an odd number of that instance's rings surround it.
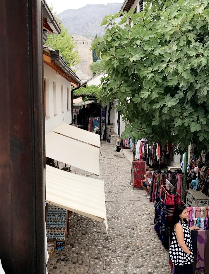
<svg viewBox="0 0 209 274">
<path fill-rule="evenodd" d="M 46 156 L 100 175 L 99 148 L 56 132 L 46 136 Z"/>
</svg>

